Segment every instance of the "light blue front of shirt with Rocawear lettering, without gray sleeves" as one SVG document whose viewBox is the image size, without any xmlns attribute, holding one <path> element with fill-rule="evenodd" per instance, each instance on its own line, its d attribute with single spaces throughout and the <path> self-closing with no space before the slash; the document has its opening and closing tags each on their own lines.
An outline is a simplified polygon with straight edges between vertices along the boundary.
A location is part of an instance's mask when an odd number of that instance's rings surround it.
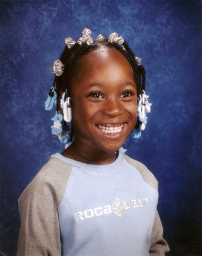
<svg viewBox="0 0 202 256">
<path fill-rule="evenodd" d="M 119 152 L 100 166 L 71 164 L 58 208 L 62 255 L 149 255 L 158 192 Z"/>
</svg>

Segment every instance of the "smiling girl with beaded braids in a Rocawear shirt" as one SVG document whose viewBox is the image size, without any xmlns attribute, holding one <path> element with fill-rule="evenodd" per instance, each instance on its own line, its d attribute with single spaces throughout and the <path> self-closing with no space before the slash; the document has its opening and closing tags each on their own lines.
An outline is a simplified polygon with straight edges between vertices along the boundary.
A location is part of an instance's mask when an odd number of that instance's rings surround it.
<svg viewBox="0 0 202 256">
<path fill-rule="evenodd" d="M 145 69 L 121 36 L 90 32 L 65 39 L 51 68 L 45 109 L 57 101 L 52 133 L 66 149 L 20 196 L 18 255 L 165 255 L 158 182 L 121 152 L 150 112 Z"/>
</svg>

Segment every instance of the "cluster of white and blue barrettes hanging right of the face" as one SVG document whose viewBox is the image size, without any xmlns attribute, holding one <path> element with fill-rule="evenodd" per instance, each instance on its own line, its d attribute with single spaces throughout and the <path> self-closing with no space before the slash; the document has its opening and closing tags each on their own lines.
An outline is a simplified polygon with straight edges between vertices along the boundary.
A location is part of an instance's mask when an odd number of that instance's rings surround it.
<svg viewBox="0 0 202 256">
<path fill-rule="evenodd" d="M 149 96 L 145 94 L 145 91 L 143 91 L 143 94 L 140 95 L 140 100 L 138 102 L 138 106 L 137 106 L 137 118 L 138 120 L 141 122 L 140 124 L 140 128 L 133 129 L 133 138 L 140 138 L 141 136 L 141 131 L 145 130 L 145 126 L 147 123 L 147 117 L 146 117 L 146 113 L 150 113 L 151 112 L 151 106 L 152 104 L 150 104 L 148 102 L 148 98 Z"/>
</svg>

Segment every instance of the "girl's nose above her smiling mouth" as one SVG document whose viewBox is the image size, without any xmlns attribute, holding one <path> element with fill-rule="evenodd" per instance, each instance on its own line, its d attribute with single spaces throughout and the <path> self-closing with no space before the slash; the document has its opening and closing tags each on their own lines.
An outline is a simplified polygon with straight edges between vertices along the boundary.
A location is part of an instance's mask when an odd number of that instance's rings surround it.
<svg viewBox="0 0 202 256">
<path fill-rule="evenodd" d="M 119 98 L 109 98 L 104 102 L 102 112 L 111 117 L 117 117 L 123 113 L 123 104 L 120 102 Z"/>
</svg>

